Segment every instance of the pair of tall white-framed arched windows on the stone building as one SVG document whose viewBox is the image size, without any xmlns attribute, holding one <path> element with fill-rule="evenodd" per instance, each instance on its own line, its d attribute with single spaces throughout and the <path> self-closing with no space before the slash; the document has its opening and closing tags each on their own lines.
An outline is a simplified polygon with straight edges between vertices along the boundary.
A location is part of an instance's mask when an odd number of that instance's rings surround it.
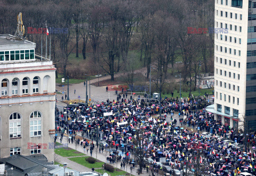
<svg viewBox="0 0 256 176">
<path fill-rule="evenodd" d="M 29 131 L 30 137 L 42 136 L 42 116 L 39 111 L 30 114 Z M 9 118 L 10 138 L 21 137 L 21 116 L 19 113 L 12 113 Z"/>
</svg>

